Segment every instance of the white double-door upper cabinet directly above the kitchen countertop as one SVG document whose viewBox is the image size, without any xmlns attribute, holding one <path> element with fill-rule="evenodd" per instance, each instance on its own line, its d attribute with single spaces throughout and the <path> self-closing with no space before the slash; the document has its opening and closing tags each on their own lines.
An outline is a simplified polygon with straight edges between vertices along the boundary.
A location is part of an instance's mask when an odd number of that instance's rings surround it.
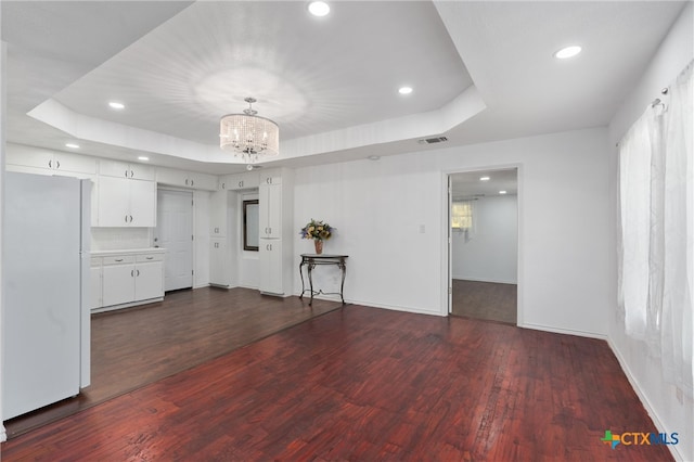
<svg viewBox="0 0 694 462">
<path fill-rule="evenodd" d="M 99 227 L 156 227 L 156 183 L 99 178 Z"/>
</svg>

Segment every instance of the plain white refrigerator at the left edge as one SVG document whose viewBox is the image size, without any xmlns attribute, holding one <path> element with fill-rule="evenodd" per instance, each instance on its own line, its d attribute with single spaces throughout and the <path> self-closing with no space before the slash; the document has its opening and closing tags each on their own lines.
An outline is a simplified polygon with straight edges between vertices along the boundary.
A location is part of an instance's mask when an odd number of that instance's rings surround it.
<svg viewBox="0 0 694 462">
<path fill-rule="evenodd" d="M 7 172 L 4 420 L 90 383 L 89 180 Z"/>
</svg>

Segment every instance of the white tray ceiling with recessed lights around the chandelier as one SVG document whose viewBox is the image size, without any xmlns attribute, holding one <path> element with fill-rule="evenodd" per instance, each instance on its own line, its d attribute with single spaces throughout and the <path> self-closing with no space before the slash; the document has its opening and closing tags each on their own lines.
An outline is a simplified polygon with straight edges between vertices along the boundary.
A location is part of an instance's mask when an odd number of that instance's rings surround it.
<svg viewBox="0 0 694 462">
<path fill-rule="evenodd" d="M 218 120 L 246 97 L 280 126 L 277 165 L 604 126 L 684 3 L 3 0 L 7 138 L 223 174 L 243 166 Z"/>
</svg>

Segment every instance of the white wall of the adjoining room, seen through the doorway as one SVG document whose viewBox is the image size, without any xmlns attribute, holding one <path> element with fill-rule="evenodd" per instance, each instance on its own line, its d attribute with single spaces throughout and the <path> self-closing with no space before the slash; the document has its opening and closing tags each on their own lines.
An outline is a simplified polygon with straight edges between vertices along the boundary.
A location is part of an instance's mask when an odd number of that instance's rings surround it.
<svg viewBox="0 0 694 462">
<path fill-rule="evenodd" d="M 452 232 L 453 279 L 515 284 L 518 213 L 516 195 L 479 197 L 473 203 L 474 231 Z"/>
</svg>

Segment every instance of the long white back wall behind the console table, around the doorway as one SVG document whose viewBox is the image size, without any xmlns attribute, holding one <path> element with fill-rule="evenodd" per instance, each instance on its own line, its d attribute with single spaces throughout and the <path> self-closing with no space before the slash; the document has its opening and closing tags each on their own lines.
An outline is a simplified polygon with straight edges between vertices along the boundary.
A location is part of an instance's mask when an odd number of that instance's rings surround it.
<svg viewBox="0 0 694 462">
<path fill-rule="evenodd" d="M 299 168 L 296 265 L 311 246 L 298 230 L 325 220 L 337 233 L 324 252 L 349 255 L 349 301 L 445 316 L 446 175 L 516 166 L 519 325 L 604 336 L 615 259 L 605 128 Z"/>
</svg>

